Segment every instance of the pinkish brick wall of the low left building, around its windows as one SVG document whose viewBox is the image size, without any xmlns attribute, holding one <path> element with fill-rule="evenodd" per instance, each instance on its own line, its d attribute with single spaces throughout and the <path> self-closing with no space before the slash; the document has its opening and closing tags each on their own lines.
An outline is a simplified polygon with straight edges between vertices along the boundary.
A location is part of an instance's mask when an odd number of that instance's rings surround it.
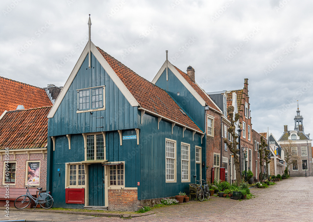
<svg viewBox="0 0 313 222">
<path fill-rule="evenodd" d="M 10 151 L 11 153 L 11 151 Z M 29 154 L 29 160 L 40 160 L 40 176 L 39 176 L 39 187 L 43 190 L 46 189 L 47 184 L 47 154 Z M 28 154 L 16 154 L 16 173 L 15 173 L 15 185 L 12 188 L 25 188 L 25 178 L 26 178 L 26 161 L 28 160 Z M 14 161 L 14 155 L 9 155 L 9 161 Z M 3 163 L 4 160 L 0 162 L 0 175 L 1 183 L 0 187 L 5 187 L 2 185 L 3 180 Z"/>
</svg>

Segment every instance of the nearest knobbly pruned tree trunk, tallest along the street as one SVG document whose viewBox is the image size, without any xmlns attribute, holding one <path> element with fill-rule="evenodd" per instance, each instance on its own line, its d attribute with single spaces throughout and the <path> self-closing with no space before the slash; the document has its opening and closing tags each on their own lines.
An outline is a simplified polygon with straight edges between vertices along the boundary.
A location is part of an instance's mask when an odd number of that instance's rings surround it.
<svg viewBox="0 0 313 222">
<path fill-rule="evenodd" d="M 228 141 L 227 138 L 224 138 L 224 143 L 227 144 L 228 149 L 234 154 L 234 163 L 235 163 L 235 169 L 236 169 L 236 181 L 237 185 L 239 186 L 241 183 L 241 174 L 240 174 L 240 165 L 239 165 L 239 157 L 237 156 L 237 153 L 239 152 L 238 149 L 238 134 L 236 134 L 236 126 L 235 123 L 239 120 L 240 115 L 239 113 L 235 114 L 234 118 L 234 107 L 228 106 L 227 108 L 227 115 L 229 116 L 229 120 L 231 122 L 230 127 L 228 128 L 228 132 L 231 134 L 233 141 Z"/>
</svg>

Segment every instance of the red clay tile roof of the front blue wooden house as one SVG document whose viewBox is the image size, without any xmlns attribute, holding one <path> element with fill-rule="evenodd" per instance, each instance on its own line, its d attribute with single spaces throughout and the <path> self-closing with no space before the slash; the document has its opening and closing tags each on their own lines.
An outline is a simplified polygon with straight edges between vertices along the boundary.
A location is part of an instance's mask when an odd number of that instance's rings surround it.
<svg viewBox="0 0 313 222">
<path fill-rule="evenodd" d="M 142 78 L 99 47 L 97 48 L 142 108 L 202 132 L 187 115 L 182 114 L 180 107 L 165 90 Z"/>
</svg>

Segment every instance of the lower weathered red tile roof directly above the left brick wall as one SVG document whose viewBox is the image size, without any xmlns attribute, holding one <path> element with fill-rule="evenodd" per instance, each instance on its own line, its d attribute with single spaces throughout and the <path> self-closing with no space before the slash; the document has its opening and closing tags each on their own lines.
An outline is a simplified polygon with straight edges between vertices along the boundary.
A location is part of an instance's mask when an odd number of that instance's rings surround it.
<svg viewBox="0 0 313 222">
<path fill-rule="evenodd" d="M 46 147 L 51 107 L 8 111 L 0 120 L 0 149 Z"/>
</svg>

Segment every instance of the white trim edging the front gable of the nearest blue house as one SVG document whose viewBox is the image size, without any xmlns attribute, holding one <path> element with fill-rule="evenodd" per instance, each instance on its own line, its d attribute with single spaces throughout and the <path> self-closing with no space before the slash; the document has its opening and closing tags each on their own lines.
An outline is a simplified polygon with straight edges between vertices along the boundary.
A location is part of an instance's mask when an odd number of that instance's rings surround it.
<svg viewBox="0 0 313 222">
<path fill-rule="evenodd" d="M 83 52 L 80 55 L 80 58 L 78 59 L 77 63 L 75 64 L 71 74 L 69 75 L 69 78 L 66 80 L 64 87 L 62 88 L 58 98 L 55 100 L 54 105 L 52 106 L 48 118 L 53 118 L 54 114 L 58 110 L 66 92 L 69 90 L 69 87 L 71 86 L 74 78 L 76 77 L 77 72 L 79 71 L 81 65 L 83 64 L 86 56 L 89 53 L 89 50 L 94 54 L 95 58 L 99 61 L 101 66 L 105 69 L 105 71 L 108 73 L 110 78 L 112 78 L 113 82 L 116 84 L 116 86 L 121 90 L 127 101 L 131 104 L 131 106 L 139 106 L 136 99 L 133 97 L 131 92 L 126 88 L 126 86 L 123 84 L 121 79 L 117 76 L 117 74 L 113 71 L 109 63 L 105 60 L 105 58 L 101 55 L 99 50 L 95 47 L 94 43 L 90 41 L 86 44 Z"/>
</svg>

